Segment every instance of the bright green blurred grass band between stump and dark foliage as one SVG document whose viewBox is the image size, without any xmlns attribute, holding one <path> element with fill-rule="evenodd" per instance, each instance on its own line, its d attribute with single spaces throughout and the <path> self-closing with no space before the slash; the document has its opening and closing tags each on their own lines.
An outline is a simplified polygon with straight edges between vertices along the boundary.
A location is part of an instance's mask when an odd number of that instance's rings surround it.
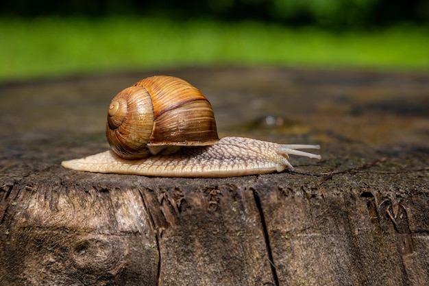
<svg viewBox="0 0 429 286">
<path fill-rule="evenodd" d="M 429 28 L 328 32 L 258 22 L 0 19 L 0 81 L 181 66 L 429 71 Z"/>
</svg>

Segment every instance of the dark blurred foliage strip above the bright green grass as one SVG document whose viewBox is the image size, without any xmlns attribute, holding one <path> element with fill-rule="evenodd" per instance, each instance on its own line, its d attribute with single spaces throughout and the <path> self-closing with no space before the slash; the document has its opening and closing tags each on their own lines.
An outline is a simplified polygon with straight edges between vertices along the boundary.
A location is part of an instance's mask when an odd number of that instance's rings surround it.
<svg viewBox="0 0 429 286">
<path fill-rule="evenodd" d="M 164 16 L 257 20 L 330 29 L 429 23 L 428 0 L 66 0 L 1 1 L 1 16 Z"/>
</svg>

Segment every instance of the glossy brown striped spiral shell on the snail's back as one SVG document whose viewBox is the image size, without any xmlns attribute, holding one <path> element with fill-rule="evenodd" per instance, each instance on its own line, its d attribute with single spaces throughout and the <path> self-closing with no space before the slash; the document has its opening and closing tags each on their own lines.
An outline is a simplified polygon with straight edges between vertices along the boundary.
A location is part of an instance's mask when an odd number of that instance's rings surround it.
<svg viewBox="0 0 429 286">
<path fill-rule="evenodd" d="M 188 82 L 169 76 L 145 78 L 118 93 L 108 109 L 106 136 L 125 159 L 219 141 L 210 102 Z"/>
</svg>

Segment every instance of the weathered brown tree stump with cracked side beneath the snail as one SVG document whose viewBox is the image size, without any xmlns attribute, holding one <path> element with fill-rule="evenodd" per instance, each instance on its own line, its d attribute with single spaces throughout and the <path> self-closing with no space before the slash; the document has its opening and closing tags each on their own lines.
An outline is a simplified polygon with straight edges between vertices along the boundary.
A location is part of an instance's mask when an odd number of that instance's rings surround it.
<svg viewBox="0 0 429 286">
<path fill-rule="evenodd" d="M 221 179 L 60 166 L 108 150 L 110 99 L 160 74 L 208 97 L 220 136 L 322 159 Z M 5 83 L 0 100 L 0 285 L 429 285 L 427 74 L 180 69 Z"/>
</svg>

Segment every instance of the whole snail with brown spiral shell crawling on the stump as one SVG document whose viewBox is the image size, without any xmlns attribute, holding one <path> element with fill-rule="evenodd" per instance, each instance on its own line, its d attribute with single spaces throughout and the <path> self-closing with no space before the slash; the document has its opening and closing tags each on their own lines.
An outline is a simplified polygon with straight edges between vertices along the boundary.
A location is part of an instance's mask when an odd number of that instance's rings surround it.
<svg viewBox="0 0 429 286">
<path fill-rule="evenodd" d="M 289 155 L 321 158 L 278 144 L 217 135 L 208 99 L 179 78 L 154 76 L 118 93 L 108 108 L 106 136 L 112 150 L 66 160 L 79 171 L 162 177 L 232 177 L 293 169 Z"/>
</svg>

